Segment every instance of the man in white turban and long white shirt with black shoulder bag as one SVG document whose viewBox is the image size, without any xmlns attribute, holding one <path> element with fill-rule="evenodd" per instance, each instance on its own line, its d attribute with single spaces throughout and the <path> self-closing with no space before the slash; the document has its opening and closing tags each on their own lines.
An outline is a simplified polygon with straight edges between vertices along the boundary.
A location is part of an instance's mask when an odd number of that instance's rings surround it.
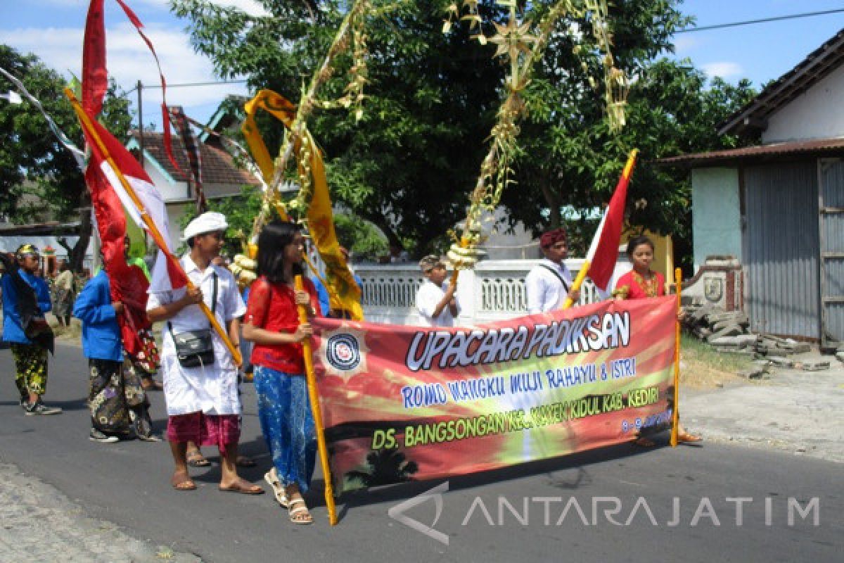
<svg viewBox="0 0 844 563">
<path fill-rule="evenodd" d="M 246 313 L 232 273 L 212 263 L 225 241 L 225 216 L 205 213 L 193 219 L 184 239 L 191 250 L 181 257 L 181 267 L 193 284 L 182 287 L 150 286 L 147 313 L 153 322 L 167 321 L 162 334 L 161 373 L 167 403 L 167 438 L 175 468 L 170 485 L 176 490 L 194 490 L 197 485 L 187 472 L 187 442 L 219 447 L 220 490 L 257 495 L 262 488 L 237 474 L 235 460 L 241 434 L 241 399 L 237 395 L 237 365 L 219 335 L 212 331 L 214 362 L 197 367 L 181 365 L 173 334 L 210 327 L 198 304 L 214 311 L 220 326 L 235 349 L 239 346 L 238 319 Z M 158 266 L 158 265 L 157 265 Z M 153 279 L 162 276 L 153 275 Z"/>
</svg>

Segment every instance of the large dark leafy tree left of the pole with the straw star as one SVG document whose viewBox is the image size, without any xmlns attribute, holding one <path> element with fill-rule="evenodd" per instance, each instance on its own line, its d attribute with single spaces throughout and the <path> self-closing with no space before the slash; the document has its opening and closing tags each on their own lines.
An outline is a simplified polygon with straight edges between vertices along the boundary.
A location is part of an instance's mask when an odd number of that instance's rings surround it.
<svg viewBox="0 0 844 563">
<path fill-rule="evenodd" d="M 262 2 L 273 19 L 199 0 L 171 4 L 190 20 L 193 46 L 211 57 L 219 76 L 245 74 L 252 89 L 273 89 L 293 101 L 344 14 L 337 2 L 315 2 L 317 10 L 301 0 Z M 322 111 L 311 131 L 326 154 L 334 201 L 376 225 L 391 245 L 425 253 L 444 247 L 446 231 L 465 215 L 501 72 L 489 47 L 464 33 L 441 33 L 441 0 L 390 4 L 396 8 L 373 18 L 368 30 L 363 118 Z M 344 88 L 344 64 L 349 61 L 341 61 L 323 97 Z M 262 130 L 277 154 L 281 128 L 266 121 Z"/>
</svg>

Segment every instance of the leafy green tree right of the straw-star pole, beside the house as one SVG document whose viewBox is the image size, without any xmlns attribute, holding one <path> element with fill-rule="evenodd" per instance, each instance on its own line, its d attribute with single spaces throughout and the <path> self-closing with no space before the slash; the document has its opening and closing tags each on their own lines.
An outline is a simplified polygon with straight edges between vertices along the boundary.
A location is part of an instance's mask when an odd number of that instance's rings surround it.
<svg viewBox="0 0 844 563">
<path fill-rule="evenodd" d="M 718 136 L 716 126 L 755 92 L 746 80 L 737 86 L 720 78 L 707 83 L 689 61 L 657 58 L 674 50 L 674 31 L 692 22 L 678 5 L 629 0 L 610 6 L 613 56 L 632 83 L 626 125 L 618 134 L 609 132 L 601 100 L 584 95 L 591 89 L 589 75 L 576 67 L 568 40 L 558 35 L 559 42 L 549 46 L 525 96 L 529 116 L 519 137 L 518 184 L 502 198 L 512 219 L 534 232 L 567 225 L 572 252 L 582 255 L 598 226 L 596 210 L 609 202 L 627 154 L 636 148 L 630 223 L 674 235 L 677 253 L 684 255 L 691 224 L 687 174 L 656 160 L 748 143 Z"/>
</svg>

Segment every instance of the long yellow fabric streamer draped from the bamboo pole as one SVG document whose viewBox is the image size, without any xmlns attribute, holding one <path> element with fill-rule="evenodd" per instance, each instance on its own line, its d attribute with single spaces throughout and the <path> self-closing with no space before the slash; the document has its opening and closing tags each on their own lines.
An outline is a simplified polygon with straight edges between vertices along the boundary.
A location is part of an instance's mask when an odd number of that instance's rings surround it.
<svg viewBox="0 0 844 563">
<path fill-rule="evenodd" d="M 241 131 L 246 137 L 246 143 L 252 152 L 252 158 L 257 162 L 258 168 L 264 181 L 270 183 L 273 180 L 274 164 L 269 155 L 267 145 L 264 144 L 261 133 L 258 131 L 255 122 L 255 113 L 258 109 L 268 111 L 271 115 L 284 123 L 288 129 L 293 125 L 295 106 L 283 96 L 272 90 L 261 90 L 252 100 L 246 102 L 246 120 L 241 126 Z M 364 311 L 360 306 L 360 287 L 354 282 L 354 276 L 349 270 L 343 254 L 340 253 L 340 243 L 337 240 L 337 233 L 334 231 L 334 216 L 331 205 L 331 198 L 328 195 L 328 181 L 325 176 L 325 165 L 322 163 L 322 154 L 314 143 L 311 132 L 305 130 L 306 138 L 311 150 L 311 179 L 313 181 L 313 194 L 311 204 L 308 206 L 307 220 L 308 230 L 311 232 L 311 239 L 317 246 L 322 262 L 326 268 L 326 283 L 328 295 L 331 300 L 332 311 L 348 311 L 349 317 L 355 321 L 364 319 Z M 298 139 L 295 139 L 297 145 Z"/>
</svg>

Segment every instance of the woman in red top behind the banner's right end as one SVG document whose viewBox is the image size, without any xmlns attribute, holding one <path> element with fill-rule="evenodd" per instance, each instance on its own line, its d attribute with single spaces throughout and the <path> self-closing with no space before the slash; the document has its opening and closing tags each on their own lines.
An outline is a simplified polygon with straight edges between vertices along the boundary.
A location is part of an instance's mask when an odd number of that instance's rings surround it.
<svg viewBox="0 0 844 563">
<path fill-rule="evenodd" d="M 633 269 L 625 273 L 615 283 L 613 295 L 616 299 L 646 299 L 665 295 L 665 278 L 662 273 L 651 269 L 653 262 L 653 242 L 647 236 L 637 236 L 627 243 L 627 256 L 633 263 Z M 701 441 L 701 436 L 687 432 L 678 423 L 678 441 Z M 654 442 L 644 436 L 636 439 L 636 445 L 652 447 Z"/>
</svg>

